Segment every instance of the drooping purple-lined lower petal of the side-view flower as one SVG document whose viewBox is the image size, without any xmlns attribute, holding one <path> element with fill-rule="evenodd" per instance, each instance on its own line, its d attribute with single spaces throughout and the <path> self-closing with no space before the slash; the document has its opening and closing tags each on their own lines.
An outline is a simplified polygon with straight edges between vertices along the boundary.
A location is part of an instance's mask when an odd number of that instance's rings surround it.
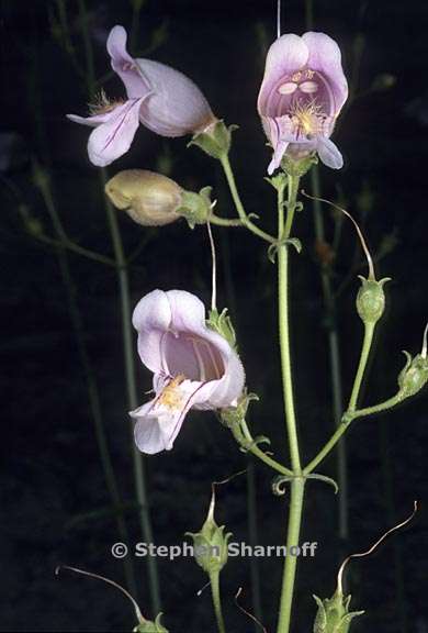
<svg viewBox="0 0 428 633">
<path fill-rule="evenodd" d="M 143 99 L 132 99 L 117 106 L 91 133 L 88 154 L 93 165 L 105 167 L 129 149 L 139 125 L 142 102 Z"/>
</svg>

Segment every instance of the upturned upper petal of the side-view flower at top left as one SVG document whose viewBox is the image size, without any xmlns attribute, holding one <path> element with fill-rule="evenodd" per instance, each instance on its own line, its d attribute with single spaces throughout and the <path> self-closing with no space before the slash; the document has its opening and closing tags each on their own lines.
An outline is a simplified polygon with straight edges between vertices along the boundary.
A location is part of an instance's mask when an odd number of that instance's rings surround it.
<svg viewBox="0 0 428 633">
<path fill-rule="evenodd" d="M 125 29 L 120 25 L 113 26 L 106 48 L 112 59 L 112 68 L 124 82 L 128 98 L 139 99 L 150 92 L 150 86 L 136 60 L 126 51 L 126 40 Z"/>
</svg>

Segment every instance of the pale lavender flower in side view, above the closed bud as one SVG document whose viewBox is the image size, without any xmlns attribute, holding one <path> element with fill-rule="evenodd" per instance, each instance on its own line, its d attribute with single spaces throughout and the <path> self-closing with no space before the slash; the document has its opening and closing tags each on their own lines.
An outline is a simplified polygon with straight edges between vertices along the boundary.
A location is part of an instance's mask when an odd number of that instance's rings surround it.
<svg viewBox="0 0 428 633">
<path fill-rule="evenodd" d="M 93 165 L 104 167 L 125 154 L 139 123 L 172 137 L 196 134 L 216 121 L 205 97 L 185 75 L 158 62 L 131 57 L 123 26 L 111 30 L 106 48 L 127 99 L 110 101 L 101 92 L 90 116 L 67 115 L 76 123 L 95 127 L 88 142 Z"/>
</svg>

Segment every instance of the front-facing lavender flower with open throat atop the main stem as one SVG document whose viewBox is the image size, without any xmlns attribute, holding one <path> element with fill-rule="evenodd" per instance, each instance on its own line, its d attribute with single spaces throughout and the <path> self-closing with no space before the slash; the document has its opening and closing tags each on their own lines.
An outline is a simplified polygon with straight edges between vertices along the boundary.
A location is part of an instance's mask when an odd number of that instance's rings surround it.
<svg viewBox="0 0 428 633">
<path fill-rule="evenodd" d="M 342 167 L 330 135 L 347 98 L 340 49 L 331 37 L 313 32 L 279 37 L 268 52 L 257 104 L 273 147 L 268 173 L 285 152 L 295 158 L 317 152 L 328 167 Z"/>
</svg>

